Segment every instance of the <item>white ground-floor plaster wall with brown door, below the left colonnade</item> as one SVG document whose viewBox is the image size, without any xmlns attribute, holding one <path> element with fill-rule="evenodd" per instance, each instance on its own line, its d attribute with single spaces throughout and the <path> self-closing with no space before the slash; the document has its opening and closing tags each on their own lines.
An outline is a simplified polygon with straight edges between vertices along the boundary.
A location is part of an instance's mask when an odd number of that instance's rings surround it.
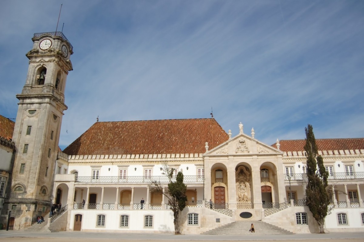
<svg viewBox="0 0 364 242">
<path fill-rule="evenodd" d="M 124 233 L 174 233 L 173 213 L 170 210 L 72 210 L 70 230 L 75 214 L 82 214 L 82 231 L 113 231 Z M 105 227 L 96 227 L 97 215 L 104 214 Z M 129 227 L 119 228 L 120 215 L 129 215 Z M 144 228 L 144 216 L 153 215 L 153 228 Z"/>
</svg>

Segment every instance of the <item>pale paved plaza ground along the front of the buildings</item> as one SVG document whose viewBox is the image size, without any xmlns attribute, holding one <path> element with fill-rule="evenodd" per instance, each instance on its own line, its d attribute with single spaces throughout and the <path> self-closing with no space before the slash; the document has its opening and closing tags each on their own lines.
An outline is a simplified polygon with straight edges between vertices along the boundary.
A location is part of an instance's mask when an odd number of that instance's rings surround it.
<svg viewBox="0 0 364 242">
<path fill-rule="evenodd" d="M 191 242 L 191 241 L 299 241 L 299 242 L 364 242 L 364 233 L 329 233 L 329 234 L 282 234 L 282 235 L 173 235 L 173 234 L 127 234 L 127 233 L 93 233 L 93 232 L 56 232 L 34 233 L 16 230 L 0 230 L 0 241 L 26 242 L 104 242 L 104 241 L 147 241 L 147 242 Z"/>
</svg>

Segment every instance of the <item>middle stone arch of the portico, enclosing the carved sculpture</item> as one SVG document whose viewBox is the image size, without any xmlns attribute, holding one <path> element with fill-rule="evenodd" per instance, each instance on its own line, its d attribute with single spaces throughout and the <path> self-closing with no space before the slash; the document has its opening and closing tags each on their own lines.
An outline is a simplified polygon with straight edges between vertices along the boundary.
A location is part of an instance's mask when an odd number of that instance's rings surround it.
<svg viewBox="0 0 364 242">
<path fill-rule="evenodd" d="M 237 164 L 235 167 L 235 189 L 237 203 L 253 201 L 254 193 L 252 181 L 252 167 L 245 162 Z"/>
</svg>

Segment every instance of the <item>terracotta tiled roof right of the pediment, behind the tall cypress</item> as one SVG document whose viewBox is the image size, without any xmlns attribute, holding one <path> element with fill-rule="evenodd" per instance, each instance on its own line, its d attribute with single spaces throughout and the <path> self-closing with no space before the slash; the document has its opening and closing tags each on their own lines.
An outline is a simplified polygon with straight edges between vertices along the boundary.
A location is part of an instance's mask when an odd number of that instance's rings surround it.
<svg viewBox="0 0 364 242">
<path fill-rule="evenodd" d="M 304 139 L 280 140 L 281 151 L 304 151 Z M 364 138 L 352 139 L 316 139 L 318 150 L 360 150 L 364 149 Z M 277 148 L 276 144 L 272 145 Z"/>
</svg>

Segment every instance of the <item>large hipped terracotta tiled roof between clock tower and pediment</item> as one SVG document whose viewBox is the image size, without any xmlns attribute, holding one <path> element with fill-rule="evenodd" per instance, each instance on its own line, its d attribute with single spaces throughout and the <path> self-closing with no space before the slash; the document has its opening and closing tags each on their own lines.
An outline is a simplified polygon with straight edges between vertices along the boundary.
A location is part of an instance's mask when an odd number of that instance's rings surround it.
<svg viewBox="0 0 364 242">
<path fill-rule="evenodd" d="M 229 137 L 215 119 L 96 122 L 70 146 L 68 155 L 204 153 Z"/>
</svg>

